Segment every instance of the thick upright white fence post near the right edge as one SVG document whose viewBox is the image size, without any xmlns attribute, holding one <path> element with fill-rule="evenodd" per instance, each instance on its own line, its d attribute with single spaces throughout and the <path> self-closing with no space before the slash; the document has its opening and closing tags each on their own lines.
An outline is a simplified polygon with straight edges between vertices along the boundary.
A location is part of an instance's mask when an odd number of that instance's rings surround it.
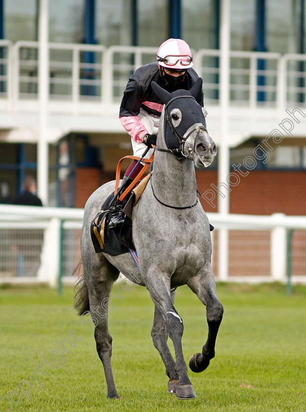
<svg viewBox="0 0 306 412">
<path fill-rule="evenodd" d="M 273 213 L 272 219 L 285 216 L 283 213 Z M 278 226 L 271 231 L 271 276 L 274 281 L 283 282 L 286 279 L 287 265 L 287 230 Z"/>
</svg>

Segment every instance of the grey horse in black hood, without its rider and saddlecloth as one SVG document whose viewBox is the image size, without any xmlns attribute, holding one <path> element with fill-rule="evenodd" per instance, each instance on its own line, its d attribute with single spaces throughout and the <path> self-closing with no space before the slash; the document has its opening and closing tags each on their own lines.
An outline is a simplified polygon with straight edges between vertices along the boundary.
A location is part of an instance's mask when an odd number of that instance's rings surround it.
<svg viewBox="0 0 306 412">
<path fill-rule="evenodd" d="M 145 286 L 155 305 L 152 338 L 166 367 L 168 391 L 179 399 L 196 397 L 183 358 L 183 322 L 174 307 L 175 288 L 187 284 L 206 306 L 208 337 L 202 353 L 189 361 L 202 372 L 215 355 L 215 341 L 223 316 L 210 263 L 211 239 L 207 216 L 198 202 L 195 167 L 211 164 L 216 146 L 206 130 L 206 111 L 195 100 L 202 79 L 189 90 L 168 93 L 156 83 L 154 92 L 165 103 L 154 154 L 153 175 L 132 211 L 132 237 L 140 271 L 129 253 L 96 254 L 90 225 L 102 203 L 114 190 L 111 181 L 88 199 L 81 235 L 83 277 L 75 297 L 81 315 L 98 317 L 97 352 L 104 367 L 107 397 L 120 398 L 111 368 L 112 337 L 108 331 L 107 302 L 113 283 L 122 272 L 129 281 Z M 127 281 L 128 282 L 128 281 Z M 97 309 L 99 311 L 97 311 Z M 167 345 L 172 339 L 176 360 Z"/>
</svg>

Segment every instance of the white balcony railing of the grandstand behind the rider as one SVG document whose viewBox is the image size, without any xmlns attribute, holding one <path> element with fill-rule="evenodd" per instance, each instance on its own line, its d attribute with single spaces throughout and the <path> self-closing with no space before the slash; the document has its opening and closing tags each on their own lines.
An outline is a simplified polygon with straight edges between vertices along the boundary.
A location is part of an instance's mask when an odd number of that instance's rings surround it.
<svg viewBox="0 0 306 412">
<path fill-rule="evenodd" d="M 49 44 L 49 100 L 51 112 L 58 102 L 69 103 L 66 112 L 118 111 L 128 77 L 155 61 L 155 48 Z M 279 112 L 306 101 L 306 56 L 269 52 L 230 54 L 230 103 L 251 109 L 271 106 Z M 205 104 L 219 104 L 219 50 L 194 52 L 194 68 L 204 79 Z M 38 43 L 0 41 L 0 110 L 28 111 L 37 102 Z M 23 102 L 26 104 L 23 104 Z M 53 103 L 53 104 L 52 104 Z M 84 104 L 86 103 L 86 104 Z M 95 104 L 94 104 L 95 103 Z"/>
</svg>

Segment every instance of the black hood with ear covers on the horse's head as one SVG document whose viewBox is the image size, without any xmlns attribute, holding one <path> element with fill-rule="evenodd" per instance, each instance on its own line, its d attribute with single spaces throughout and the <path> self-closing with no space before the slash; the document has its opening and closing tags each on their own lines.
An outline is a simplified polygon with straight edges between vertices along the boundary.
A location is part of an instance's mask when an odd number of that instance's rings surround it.
<svg viewBox="0 0 306 412">
<path fill-rule="evenodd" d="M 162 89 L 154 81 L 151 83 L 156 95 L 162 100 L 163 103 L 166 104 L 166 110 L 169 117 L 173 109 L 178 109 L 181 112 L 181 121 L 179 125 L 175 127 L 181 136 L 183 136 L 186 130 L 188 130 L 195 123 L 201 123 L 206 129 L 204 115 L 206 111 L 196 101 L 202 91 L 202 83 L 203 80 L 199 77 L 195 85 L 190 90 L 176 90 L 173 93 L 169 93 Z M 172 133 L 168 122 L 165 122 L 165 142 L 168 149 L 179 149 L 180 142 Z"/>
</svg>

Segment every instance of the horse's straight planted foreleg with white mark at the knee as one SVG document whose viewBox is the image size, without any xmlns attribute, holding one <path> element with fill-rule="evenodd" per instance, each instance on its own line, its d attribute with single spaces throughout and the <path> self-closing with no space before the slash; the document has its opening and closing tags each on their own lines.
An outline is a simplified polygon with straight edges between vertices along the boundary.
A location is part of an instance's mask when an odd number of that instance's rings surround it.
<svg viewBox="0 0 306 412">
<path fill-rule="evenodd" d="M 146 286 L 153 299 L 155 307 L 161 313 L 166 325 L 167 335 L 171 338 L 176 354 L 175 372 L 178 375 L 176 396 L 180 399 L 196 397 L 193 386 L 188 377 L 187 365 L 183 357 L 181 338 L 184 327 L 183 322 L 174 308 L 170 298 L 170 280 L 156 270 L 148 270 Z"/>
</svg>

